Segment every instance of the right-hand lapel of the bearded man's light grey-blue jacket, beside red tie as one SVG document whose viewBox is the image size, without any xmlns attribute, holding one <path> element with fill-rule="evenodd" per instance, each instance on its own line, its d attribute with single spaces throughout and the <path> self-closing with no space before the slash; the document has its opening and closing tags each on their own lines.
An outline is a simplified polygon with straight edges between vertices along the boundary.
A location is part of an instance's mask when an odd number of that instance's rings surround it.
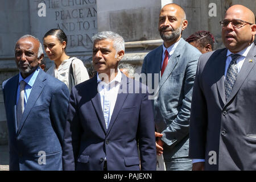
<svg viewBox="0 0 256 182">
<path fill-rule="evenodd" d="M 167 78 L 170 77 L 172 71 L 174 71 L 174 68 L 176 67 L 177 62 L 179 61 L 180 54 L 183 51 L 184 45 L 185 45 L 185 40 L 183 40 L 183 38 L 180 38 L 180 42 L 175 48 L 174 53 L 171 55 L 170 60 L 168 61 L 167 67 L 164 70 L 163 76 L 160 79 L 159 90 L 163 86 L 164 82 L 166 82 Z M 162 59 L 162 56 L 161 56 L 161 59 Z"/>
</svg>

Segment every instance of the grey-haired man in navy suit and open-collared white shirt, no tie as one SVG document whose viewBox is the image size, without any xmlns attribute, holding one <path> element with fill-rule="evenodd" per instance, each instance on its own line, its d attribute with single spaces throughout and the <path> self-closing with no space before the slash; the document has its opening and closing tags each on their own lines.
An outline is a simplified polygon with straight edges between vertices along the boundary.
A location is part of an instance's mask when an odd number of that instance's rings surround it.
<svg viewBox="0 0 256 182">
<path fill-rule="evenodd" d="M 154 117 L 146 85 L 126 77 L 118 62 L 125 42 L 114 32 L 93 36 L 97 75 L 71 92 L 64 134 L 64 170 L 156 169 Z"/>
</svg>

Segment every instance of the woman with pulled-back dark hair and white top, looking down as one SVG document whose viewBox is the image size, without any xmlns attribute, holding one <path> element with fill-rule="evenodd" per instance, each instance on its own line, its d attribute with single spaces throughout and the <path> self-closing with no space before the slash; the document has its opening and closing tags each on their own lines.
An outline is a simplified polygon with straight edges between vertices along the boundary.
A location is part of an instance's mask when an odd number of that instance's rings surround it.
<svg viewBox="0 0 256 182">
<path fill-rule="evenodd" d="M 67 36 L 61 29 L 51 29 L 43 37 L 44 51 L 55 63 L 47 73 L 63 81 L 71 92 L 73 86 L 88 80 L 89 75 L 80 59 L 67 55 L 67 43 Z"/>
</svg>

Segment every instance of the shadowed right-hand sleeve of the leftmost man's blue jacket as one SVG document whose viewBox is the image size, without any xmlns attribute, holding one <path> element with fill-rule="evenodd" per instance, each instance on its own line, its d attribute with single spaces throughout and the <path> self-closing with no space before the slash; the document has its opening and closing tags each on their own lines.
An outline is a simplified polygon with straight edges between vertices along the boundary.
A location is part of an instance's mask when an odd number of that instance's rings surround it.
<svg viewBox="0 0 256 182">
<path fill-rule="evenodd" d="M 49 106 L 49 114 L 53 128 L 63 146 L 64 127 L 68 111 L 69 90 L 65 84 L 56 87 Z"/>
</svg>

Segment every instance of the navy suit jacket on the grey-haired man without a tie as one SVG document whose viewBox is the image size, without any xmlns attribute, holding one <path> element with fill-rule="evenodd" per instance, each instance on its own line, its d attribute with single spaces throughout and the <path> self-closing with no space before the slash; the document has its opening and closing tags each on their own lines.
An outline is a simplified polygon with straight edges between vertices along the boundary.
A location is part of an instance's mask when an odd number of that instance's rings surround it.
<svg viewBox="0 0 256 182">
<path fill-rule="evenodd" d="M 134 93 L 135 85 L 143 91 Z M 105 156 L 110 171 L 139 170 L 137 139 L 141 169 L 156 169 L 154 117 L 146 86 L 122 74 L 120 89 L 126 93 L 118 93 L 106 130 L 97 75 L 73 88 L 64 134 L 64 170 L 103 170 Z"/>
</svg>

